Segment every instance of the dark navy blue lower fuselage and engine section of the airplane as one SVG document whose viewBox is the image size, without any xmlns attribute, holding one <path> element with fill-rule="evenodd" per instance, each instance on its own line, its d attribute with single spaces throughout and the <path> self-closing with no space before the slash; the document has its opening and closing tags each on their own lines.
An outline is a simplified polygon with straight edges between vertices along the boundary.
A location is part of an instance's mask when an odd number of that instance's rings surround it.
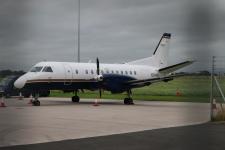
<svg viewBox="0 0 225 150">
<path fill-rule="evenodd" d="M 100 88 L 111 91 L 112 93 L 121 93 L 129 89 L 129 85 L 124 83 L 127 81 L 135 80 L 131 76 L 117 75 L 117 74 L 104 74 L 103 81 L 101 81 Z M 40 91 L 40 90 L 77 90 L 88 89 L 97 90 L 99 83 L 93 80 L 30 80 L 25 84 L 25 88 Z"/>
</svg>

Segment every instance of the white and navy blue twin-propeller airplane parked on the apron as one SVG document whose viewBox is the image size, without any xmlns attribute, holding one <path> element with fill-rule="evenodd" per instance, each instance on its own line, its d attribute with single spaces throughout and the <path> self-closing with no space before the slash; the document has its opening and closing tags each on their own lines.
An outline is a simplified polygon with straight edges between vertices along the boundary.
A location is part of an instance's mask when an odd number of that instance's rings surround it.
<svg viewBox="0 0 225 150">
<path fill-rule="evenodd" d="M 14 86 L 34 91 L 34 106 L 40 106 L 38 93 L 42 90 L 62 90 L 74 92 L 72 102 L 79 102 L 78 90 L 102 90 L 114 93 L 127 92 L 124 104 L 134 104 L 131 90 L 149 86 L 155 82 L 168 82 L 176 76 L 172 73 L 192 64 L 184 61 L 168 66 L 170 33 L 164 33 L 151 57 L 123 64 L 39 62 L 26 74 L 18 78 Z"/>
</svg>

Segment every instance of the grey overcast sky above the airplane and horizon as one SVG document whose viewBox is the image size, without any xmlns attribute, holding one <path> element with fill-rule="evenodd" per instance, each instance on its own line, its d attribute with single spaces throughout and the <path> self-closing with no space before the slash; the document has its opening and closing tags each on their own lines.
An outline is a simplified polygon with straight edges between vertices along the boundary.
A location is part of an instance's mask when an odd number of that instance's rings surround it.
<svg viewBox="0 0 225 150">
<path fill-rule="evenodd" d="M 0 69 L 77 61 L 78 0 L 1 0 Z M 196 71 L 225 55 L 223 0 L 81 0 L 81 61 L 123 63 L 151 56 L 172 33 L 169 63 Z"/>
</svg>

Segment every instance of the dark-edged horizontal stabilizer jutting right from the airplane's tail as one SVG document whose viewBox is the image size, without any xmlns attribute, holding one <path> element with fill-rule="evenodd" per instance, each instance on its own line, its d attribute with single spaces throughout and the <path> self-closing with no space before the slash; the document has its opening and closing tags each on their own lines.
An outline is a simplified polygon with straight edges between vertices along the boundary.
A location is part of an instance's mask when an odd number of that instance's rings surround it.
<svg viewBox="0 0 225 150">
<path fill-rule="evenodd" d="M 176 64 L 176 65 L 172 65 L 172 66 L 168 66 L 168 67 L 165 67 L 165 68 L 161 68 L 161 69 L 159 69 L 159 73 L 168 74 L 168 73 L 174 72 L 174 71 L 176 71 L 178 69 L 181 69 L 183 67 L 186 67 L 186 66 L 192 64 L 193 62 L 194 61 L 185 61 L 185 62 Z"/>
</svg>

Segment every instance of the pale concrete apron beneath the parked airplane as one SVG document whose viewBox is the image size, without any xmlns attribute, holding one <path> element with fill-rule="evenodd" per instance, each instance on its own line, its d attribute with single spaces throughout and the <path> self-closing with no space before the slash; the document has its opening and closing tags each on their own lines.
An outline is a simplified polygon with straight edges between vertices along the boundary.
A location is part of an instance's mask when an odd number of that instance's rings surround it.
<svg viewBox="0 0 225 150">
<path fill-rule="evenodd" d="M 0 108 L 0 147 L 27 145 L 90 137 L 117 135 L 202 124 L 209 121 L 209 104 L 69 98 L 40 98 L 41 106 L 29 98 L 5 100 Z M 104 149 L 104 148 L 103 148 Z"/>
</svg>

